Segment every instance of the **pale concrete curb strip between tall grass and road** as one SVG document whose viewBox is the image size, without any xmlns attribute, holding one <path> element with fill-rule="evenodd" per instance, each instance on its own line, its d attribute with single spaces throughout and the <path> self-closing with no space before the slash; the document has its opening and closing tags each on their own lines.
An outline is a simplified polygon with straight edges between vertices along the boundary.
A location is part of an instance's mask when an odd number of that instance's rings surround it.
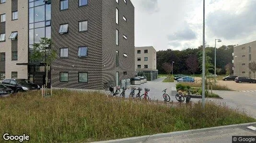
<svg viewBox="0 0 256 143">
<path fill-rule="evenodd" d="M 100 141 L 100 142 L 93 142 L 93 143 L 135 143 L 135 142 L 145 142 L 145 141 L 150 140 L 150 139 L 166 138 L 166 137 L 172 137 L 172 136 L 177 136 L 177 135 L 185 135 L 185 134 L 191 134 L 191 133 L 210 132 L 210 131 L 216 131 L 216 130 L 222 130 L 222 129 L 237 128 L 237 127 L 242 127 L 242 126 L 247 126 L 247 125 L 252 125 L 252 124 L 256 124 L 256 122 L 232 124 L 232 125 L 225 125 L 225 126 L 219 126 L 219 127 L 210 127 L 210 128 L 202 128 L 202 129 L 193 129 L 193 130 L 187 130 L 187 131 L 177 131 L 177 132 L 170 132 L 170 133 L 158 133 L 158 134 L 152 134 L 152 135 L 144 135 L 144 136 L 139 136 L 139 137 L 130 137 L 130 138 L 124 138 L 124 139 Z"/>
</svg>

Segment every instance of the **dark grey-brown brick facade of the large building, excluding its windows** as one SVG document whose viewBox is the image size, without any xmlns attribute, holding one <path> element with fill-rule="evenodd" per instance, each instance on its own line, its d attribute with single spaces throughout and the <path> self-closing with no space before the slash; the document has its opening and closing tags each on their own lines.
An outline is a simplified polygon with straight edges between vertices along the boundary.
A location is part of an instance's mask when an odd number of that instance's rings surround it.
<svg viewBox="0 0 256 143">
<path fill-rule="evenodd" d="M 78 0 L 69 0 L 69 9 L 60 10 L 59 0 L 51 2 L 51 38 L 59 56 L 60 48 L 69 48 L 69 57 L 54 61 L 51 68 L 53 87 L 103 89 L 105 82 L 134 76 L 134 7 L 129 0 L 119 4 L 115 0 L 88 0 L 79 7 Z M 119 9 L 119 25 L 116 24 L 116 7 Z M 127 22 L 123 20 L 126 16 Z M 88 20 L 88 31 L 79 32 L 79 21 Z M 69 23 L 69 32 L 60 35 L 60 24 Z M 116 29 L 119 30 L 119 46 L 116 46 Z M 123 39 L 123 34 L 128 40 Z M 78 58 L 78 47 L 88 47 L 88 57 Z M 119 67 L 116 67 L 116 50 L 119 51 Z M 128 54 L 127 58 L 123 53 Z M 69 82 L 60 82 L 59 72 L 69 72 Z M 78 72 L 88 72 L 88 82 L 78 82 Z M 123 72 L 127 72 L 123 76 Z"/>
</svg>

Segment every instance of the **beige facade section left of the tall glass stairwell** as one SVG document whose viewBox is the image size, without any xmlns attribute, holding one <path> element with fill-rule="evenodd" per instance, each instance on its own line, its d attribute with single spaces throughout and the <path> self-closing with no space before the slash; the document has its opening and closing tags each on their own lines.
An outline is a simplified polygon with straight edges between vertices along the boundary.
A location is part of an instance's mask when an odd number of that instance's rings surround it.
<svg viewBox="0 0 256 143">
<path fill-rule="evenodd" d="M 28 2 L 0 2 L 0 79 L 28 78 Z"/>
</svg>

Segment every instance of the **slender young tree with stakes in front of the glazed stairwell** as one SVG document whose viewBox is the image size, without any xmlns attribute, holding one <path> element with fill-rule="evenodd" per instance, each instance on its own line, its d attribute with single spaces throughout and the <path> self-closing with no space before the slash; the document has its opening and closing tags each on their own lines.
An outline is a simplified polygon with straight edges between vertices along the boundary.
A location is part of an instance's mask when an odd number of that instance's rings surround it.
<svg viewBox="0 0 256 143">
<path fill-rule="evenodd" d="M 57 52 L 51 49 L 52 41 L 48 38 L 41 38 L 39 43 L 33 45 L 33 53 L 31 59 L 43 62 L 46 72 L 46 87 L 48 81 L 48 71 L 50 70 L 51 63 L 57 59 Z"/>
</svg>

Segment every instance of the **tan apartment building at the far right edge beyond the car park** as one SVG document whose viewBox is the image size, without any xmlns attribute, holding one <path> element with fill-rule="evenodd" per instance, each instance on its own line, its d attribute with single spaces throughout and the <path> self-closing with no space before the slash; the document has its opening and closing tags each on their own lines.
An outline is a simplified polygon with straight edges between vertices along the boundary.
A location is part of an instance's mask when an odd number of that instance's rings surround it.
<svg viewBox="0 0 256 143">
<path fill-rule="evenodd" d="M 254 78 L 253 72 L 249 69 L 252 61 L 256 62 L 256 41 L 245 43 L 234 47 L 233 72 L 236 76 Z"/>
</svg>

